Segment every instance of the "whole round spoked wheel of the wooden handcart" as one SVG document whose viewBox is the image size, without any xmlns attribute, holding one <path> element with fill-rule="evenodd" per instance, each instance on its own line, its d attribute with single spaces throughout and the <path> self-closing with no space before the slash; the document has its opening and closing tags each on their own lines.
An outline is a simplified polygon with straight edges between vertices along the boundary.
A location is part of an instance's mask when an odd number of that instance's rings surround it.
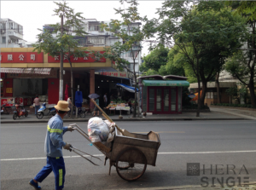
<svg viewBox="0 0 256 190">
<path fill-rule="evenodd" d="M 143 176 L 147 168 L 147 158 L 137 148 L 128 148 L 116 159 L 116 171 L 126 181 L 135 181 Z"/>
</svg>

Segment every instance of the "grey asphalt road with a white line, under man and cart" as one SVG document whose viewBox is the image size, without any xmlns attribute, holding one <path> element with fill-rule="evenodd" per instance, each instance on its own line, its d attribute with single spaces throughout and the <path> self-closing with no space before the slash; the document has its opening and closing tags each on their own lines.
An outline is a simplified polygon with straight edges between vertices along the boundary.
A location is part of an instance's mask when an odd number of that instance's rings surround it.
<svg viewBox="0 0 256 190">
<path fill-rule="evenodd" d="M 86 131 L 87 124 L 78 124 Z M 160 133 L 161 146 L 156 166 L 148 165 L 139 180 L 129 182 L 122 180 L 114 167 L 111 176 L 108 176 L 108 164 L 104 166 L 103 161 L 99 163 L 100 166 L 94 166 L 77 154 L 63 150 L 67 157 L 64 158 L 67 170 L 65 189 L 166 189 L 173 186 L 206 185 L 207 182 L 210 187 L 214 177 L 219 181 L 223 178 L 224 185 L 228 177 L 234 177 L 230 183 L 234 181 L 236 185 L 239 181 L 256 181 L 255 121 L 122 122 L 118 125 L 130 132 L 154 130 Z M 1 124 L 1 189 L 33 189 L 28 181 L 46 163 L 45 133 L 46 124 Z M 64 141 L 104 160 L 102 153 L 90 146 L 77 131 L 67 132 Z M 187 176 L 187 163 L 199 163 L 200 176 Z M 221 164 L 217 166 L 217 173 L 221 175 L 216 175 L 216 164 Z M 234 170 L 227 170 L 227 167 L 232 169 L 234 166 Z M 201 182 L 202 177 L 207 177 L 207 180 L 204 178 L 207 182 Z M 217 179 L 213 181 L 219 184 Z M 40 185 L 44 190 L 54 189 L 53 173 Z"/>
</svg>

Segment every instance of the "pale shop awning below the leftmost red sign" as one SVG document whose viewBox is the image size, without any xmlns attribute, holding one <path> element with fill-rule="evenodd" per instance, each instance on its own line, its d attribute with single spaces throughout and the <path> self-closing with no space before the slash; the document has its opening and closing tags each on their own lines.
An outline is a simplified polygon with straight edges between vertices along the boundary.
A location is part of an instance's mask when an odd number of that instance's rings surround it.
<svg viewBox="0 0 256 190">
<path fill-rule="evenodd" d="M 50 69 L 51 68 L 1 68 L 1 72 L 49 75 Z"/>
</svg>

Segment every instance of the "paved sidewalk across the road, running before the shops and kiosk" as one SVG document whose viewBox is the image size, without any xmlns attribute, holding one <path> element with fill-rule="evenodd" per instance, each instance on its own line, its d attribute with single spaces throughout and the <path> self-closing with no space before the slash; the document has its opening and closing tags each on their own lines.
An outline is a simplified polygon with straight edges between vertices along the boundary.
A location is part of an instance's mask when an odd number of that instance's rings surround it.
<svg viewBox="0 0 256 190">
<path fill-rule="evenodd" d="M 109 115 L 113 121 L 172 121 L 172 120 L 242 120 L 251 119 L 256 120 L 256 111 L 238 110 L 236 108 L 219 108 L 210 107 L 211 112 L 201 112 L 200 117 L 196 117 L 195 112 L 183 112 L 182 114 L 153 114 L 148 115 L 146 118 L 131 118 L 132 115 L 123 115 L 123 119 L 119 119 L 119 115 Z M 30 114 L 28 117 L 13 119 L 13 115 L 1 115 L 1 124 L 15 124 L 15 123 L 46 123 L 49 118 L 44 117 L 42 119 L 36 118 L 34 114 Z M 100 116 L 103 118 L 102 116 Z M 92 118 L 91 114 L 86 115 L 85 118 L 64 118 L 65 122 L 88 122 Z M 105 119 L 105 118 L 103 118 Z"/>
</svg>

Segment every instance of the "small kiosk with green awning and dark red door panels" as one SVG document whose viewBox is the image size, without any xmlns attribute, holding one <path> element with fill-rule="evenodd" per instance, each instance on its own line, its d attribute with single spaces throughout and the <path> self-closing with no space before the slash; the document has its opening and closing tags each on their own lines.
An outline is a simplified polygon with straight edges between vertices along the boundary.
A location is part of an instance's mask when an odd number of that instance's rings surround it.
<svg viewBox="0 0 256 190">
<path fill-rule="evenodd" d="M 155 77 L 155 76 L 154 76 Z M 152 112 L 154 114 L 173 114 L 182 113 L 182 91 L 183 87 L 189 87 L 189 82 L 175 80 L 172 77 L 162 80 L 148 80 L 153 76 L 139 78 L 141 89 L 141 105 L 143 112 Z M 161 76 L 157 76 L 161 78 Z"/>
</svg>

